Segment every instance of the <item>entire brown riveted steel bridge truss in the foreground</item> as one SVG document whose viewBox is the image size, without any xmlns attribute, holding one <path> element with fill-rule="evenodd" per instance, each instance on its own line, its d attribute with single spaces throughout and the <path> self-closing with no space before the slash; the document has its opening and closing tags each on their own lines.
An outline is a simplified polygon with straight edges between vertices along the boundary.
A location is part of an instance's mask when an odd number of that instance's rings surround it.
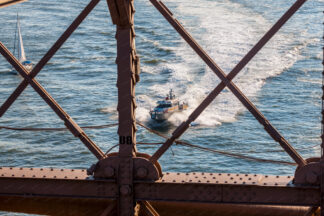
<svg viewBox="0 0 324 216">
<path fill-rule="evenodd" d="M 0 53 L 24 78 L 0 107 L 0 117 L 31 85 L 71 133 L 98 158 L 98 162 L 87 170 L 0 167 L 0 210 L 102 216 L 324 215 L 321 210 L 324 207 L 323 156 L 302 158 L 232 82 L 306 0 L 297 0 L 229 74 L 209 57 L 161 1 L 150 0 L 221 80 L 152 156 L 136 148 L 135 85 L 139 81 L 140 60 L 135 47 L 133 0 L 107 0 L 116 25 L 119 152 L 105 154 L 36 79 L 99 1 L 90 1 L 31 72 L 0 42 Z M 294 176 L 162 172 L 159 158 L 225 87 L 297 163 Z M 322 143 L 323 140 L 324 136 Z"/>
</svg>

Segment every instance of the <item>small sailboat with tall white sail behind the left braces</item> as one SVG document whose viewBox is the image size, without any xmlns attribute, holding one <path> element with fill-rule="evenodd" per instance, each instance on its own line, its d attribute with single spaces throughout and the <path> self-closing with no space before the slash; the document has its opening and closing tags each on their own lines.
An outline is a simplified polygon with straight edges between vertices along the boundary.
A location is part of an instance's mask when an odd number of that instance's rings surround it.
<svg viewBox="0 0 324 216">
<path fill-rule="evenodd" d="M 18 37 L 17 37 L 18 34 Z M 16 46 L 17 45 L 17 46 Z M 15 32 L 15 41 L 14 41 L 14 51 L 13 54 L 16 54 L 17 50 L 17 59 L 18 61 L 26 68 L 27 71 L 31 71 L 33 69 L 33 63 L 26 58 L 24 43 L 20 30 L 20 22 L 19 15 L 17 13 L 17 24 L 16 24 L 16 32 Z M 13 69 L 15 71 L 15 69 Z"/>
</svg>

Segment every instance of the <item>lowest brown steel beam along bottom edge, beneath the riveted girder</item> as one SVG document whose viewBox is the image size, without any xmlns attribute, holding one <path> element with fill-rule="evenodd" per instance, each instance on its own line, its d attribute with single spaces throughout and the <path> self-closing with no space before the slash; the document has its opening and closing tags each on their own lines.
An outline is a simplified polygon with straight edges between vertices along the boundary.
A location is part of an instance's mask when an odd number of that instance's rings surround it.
<svg viewBox="0 0 324 216">
<path fill-rule="evenodd" d="M 308 216 L 308 207 L 243 204 L 210 204 L 152 201 L 161 216 Z M 52 216 L 103 216 L 102 211 L 111 200 L 77 198 L 32 198 L 0 196 L 0 209 Z M 145 212 L 146 213 L 146 212 Z M 139 216 L 148 216 L 140 210 Z M 111 212 L 109 216 L 116 215 Z M 313 215 L 309 215 L 313 216 Z M 315 215 L 314 215 L 315 216 Z"/>
</svg>

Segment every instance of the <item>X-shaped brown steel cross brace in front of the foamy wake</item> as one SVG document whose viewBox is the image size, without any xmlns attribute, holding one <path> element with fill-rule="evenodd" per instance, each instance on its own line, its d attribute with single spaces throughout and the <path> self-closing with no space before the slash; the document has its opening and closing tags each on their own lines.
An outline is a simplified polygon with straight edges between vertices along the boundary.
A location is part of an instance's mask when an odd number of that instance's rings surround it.
<svg viewBox="0 0 324 216">
<path fill-rule="evenodd" d="M 183 26 L 173 18 L 171 11 L 161 2 L 150 0 L 166 20 L 175 28 L 175 30 L 185 39 L 191 48 L 202 58 L 209 68 L 221 79 L 221 83 L 208 95 L 208 97 L 195 109 L 186 122 L 183 122 L 168 139 L 151 157 L 151 162 L 156 162 L 164 152 L 173 144 L 174 140 L 179 138 L 206 107 L 216 98 L 216 96 L 227 86 L 241 103 L 252 113 L 252 115 L 262 124 L 268 134 L 278 142 L 289 156 L 300 166 L 306 165 L 306 161 L 297 151 L 288 143 L 287 140 L 270 124 L 270 122 L 261 114 L 253 103 L 231 82 L 231 80 L 246 66 L 246 64 L 261 50 L 261 48 L 276 34 L 276 32 L 289 20 L 289 18 L 306 2 L 306 0 L 296 1 L 289 10 L 276 22 L 276 24 L 260 39 L 260 41 L 244 56 L 244 58 L 235 66 L 235 68 L 226 76 L 218 65 L 208 56 L 208 54 L 199 46 Z"/>
</svg>

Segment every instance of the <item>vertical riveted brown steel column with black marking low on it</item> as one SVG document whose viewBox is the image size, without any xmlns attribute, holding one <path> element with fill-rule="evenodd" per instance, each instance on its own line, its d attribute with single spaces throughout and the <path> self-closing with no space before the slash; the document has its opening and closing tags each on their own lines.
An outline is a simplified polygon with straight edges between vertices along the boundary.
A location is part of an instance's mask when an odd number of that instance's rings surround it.
<svg viewBox="0 0 324 216">
<path fill-rule="evenodd" d="M 133 158 L 136 156 L 135 119 L 135 32 L 132 0 L 117 0 L 117 88 L 119 115 L 119 185 L 118 215 L 134 215 Z M 108 4 L 110 2 L 108 1 Z M 112 5 L 112 4 L 109 4 Z M 109 7 L 111 9 L 111 7 Z M 127 18 L 127 19 L 126 19 Z"/>
</svg>

